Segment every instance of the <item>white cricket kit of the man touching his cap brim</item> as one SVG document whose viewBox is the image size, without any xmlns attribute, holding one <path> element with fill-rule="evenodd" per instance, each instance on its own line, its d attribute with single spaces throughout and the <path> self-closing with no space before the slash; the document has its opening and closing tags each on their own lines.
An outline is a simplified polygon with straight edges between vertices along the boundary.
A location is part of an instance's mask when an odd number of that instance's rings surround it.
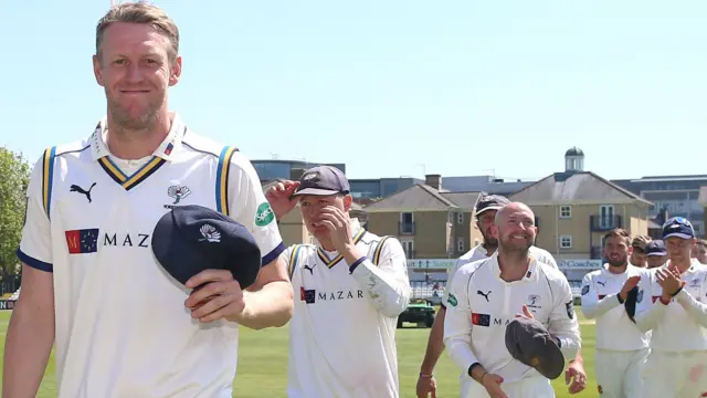
<svg viewBox="0 0 707 398">
<path fill-rule="evenodd" d="M 405 253 L 352 219 L 367 259 L 354 265 L 313 244 L 288 248 L 295 290 L 287 397 L 398 398 L 398 315 L 411 295 Z"/>
</svg>

